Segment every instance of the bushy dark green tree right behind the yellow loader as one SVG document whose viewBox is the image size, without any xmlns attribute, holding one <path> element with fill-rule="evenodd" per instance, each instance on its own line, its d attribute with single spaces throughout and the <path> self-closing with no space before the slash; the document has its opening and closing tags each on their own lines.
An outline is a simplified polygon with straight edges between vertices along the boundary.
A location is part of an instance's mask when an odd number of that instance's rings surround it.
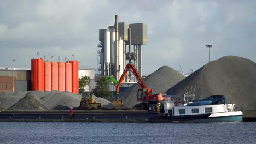
<svg viewBox="0 0 256 144">
<path fill-rule="evenodd" d="M 106 77 L 101 77 L 97 80 L 94 94 L 97 97 L 109 97 L 110 92 L 108 91 L 108 82 L 106 81 Z"/>
</svg>

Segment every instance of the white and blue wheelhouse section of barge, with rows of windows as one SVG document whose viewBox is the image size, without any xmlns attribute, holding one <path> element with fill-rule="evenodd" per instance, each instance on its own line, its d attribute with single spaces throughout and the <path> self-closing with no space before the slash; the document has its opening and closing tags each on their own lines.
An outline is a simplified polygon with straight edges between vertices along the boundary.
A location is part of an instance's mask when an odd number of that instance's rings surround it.
<svg viewBox="0 0 256 144">
<path fill-rule="evenodd" d="M 242 112 L 224 95 L 194 100 L 195 94 L 165 96 L 164 114 L 152 122 L 241 122 Z"/>
</svg>

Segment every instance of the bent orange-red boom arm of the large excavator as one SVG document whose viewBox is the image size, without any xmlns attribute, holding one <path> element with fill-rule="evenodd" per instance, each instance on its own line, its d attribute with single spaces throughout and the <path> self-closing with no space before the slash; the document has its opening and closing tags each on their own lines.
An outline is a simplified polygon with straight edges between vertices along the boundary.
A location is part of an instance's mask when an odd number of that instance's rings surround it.
<svg viewBox="0 0 256 144">
<path fill-rule="evenodd" d="M 121 75 L 121 77 L 118 81 L 118 84 L 117 84 L 117 87 L 116 87 L 117 95 L 119 94 L 119 87 L 121 86 L 121 83 L 123 82 L 123 80 L 124 80 L 128 71 L 131 71 L 135 75 L 135 77 L 136 77 L 136 79 L 139 83 L 139 86 L 141 86 L 142 89 L 147 89 L 148 88 L 147 85 L 145 84 L 145 82 L 143 81 L 143 79 L 141 78 L 141 76 L 139 75 L 137 69 L 134 67 L 134 65 L 132 63 L 128 63 L 126 65 L 125 69 L 124 69 L 123 74 Z"/>
</svg>

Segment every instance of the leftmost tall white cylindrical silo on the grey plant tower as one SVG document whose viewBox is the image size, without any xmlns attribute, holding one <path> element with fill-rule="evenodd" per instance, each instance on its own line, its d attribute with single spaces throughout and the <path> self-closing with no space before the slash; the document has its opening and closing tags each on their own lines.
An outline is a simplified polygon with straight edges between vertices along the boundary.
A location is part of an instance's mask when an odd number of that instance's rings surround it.
<svg viewBox="0 0 256 144">
<path fill-rule="evenodd" d="M 110 63 L 110 32 L 108 29 L 105 31 L 105 44 L 104 44 L 104 63 L 106 65 L 106 69 L 109 70 L 108 66 Z"/>
</svg>

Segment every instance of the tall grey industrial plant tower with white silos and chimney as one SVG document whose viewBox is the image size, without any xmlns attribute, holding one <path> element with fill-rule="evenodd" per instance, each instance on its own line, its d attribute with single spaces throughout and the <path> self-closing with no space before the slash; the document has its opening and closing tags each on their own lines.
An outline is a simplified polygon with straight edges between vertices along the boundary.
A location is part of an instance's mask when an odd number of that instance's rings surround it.
<svg viewBox="0 0 256 144">
<path fill-rule="evenodd" d="M 99 30 L 97 68 L 100 75 L 113 75 L 119 80 L 127 63 L 132 62 L 142 75 L 142 45 L 148 42 L 147 23 L 118 22 Z M 127 80 L 132 82 L 131 74 Z"/>
</svg>

